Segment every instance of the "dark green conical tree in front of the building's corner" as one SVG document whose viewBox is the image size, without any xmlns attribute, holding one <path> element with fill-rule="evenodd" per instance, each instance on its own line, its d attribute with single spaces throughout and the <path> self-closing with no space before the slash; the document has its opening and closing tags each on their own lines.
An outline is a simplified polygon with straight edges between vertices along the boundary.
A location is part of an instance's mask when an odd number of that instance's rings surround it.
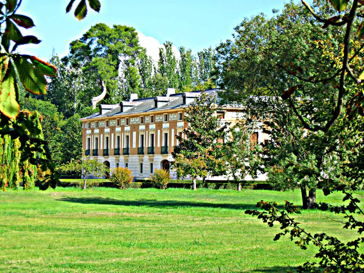
<svg viewBox="0 0 364 273">
<path fill-rule="evenodd" d="M 175 161 L 172 166 L 177 170 L 177 177 L 190 175 L 193 190 L 196 190 L 196 178 L 203 181 L 208 175 L 217 176 L 226 173 L 222 160 L 221 147 L 228 124 L 223 124 L 216 115 L 216 96 L 201 92 L 195 103 L 186 108 L 184 120 L 189 127 L 183 130 L 185 138 L 177 136 L 179 146 L 172 153 Z"/>
</svg>

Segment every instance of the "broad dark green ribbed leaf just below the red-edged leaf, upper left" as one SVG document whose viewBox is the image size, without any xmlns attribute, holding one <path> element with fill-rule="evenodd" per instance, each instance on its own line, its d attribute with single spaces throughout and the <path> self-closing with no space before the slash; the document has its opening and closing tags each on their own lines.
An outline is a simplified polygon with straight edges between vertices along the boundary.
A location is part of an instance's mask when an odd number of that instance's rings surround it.
<svg viewBox="0 0 364 273">
<path fill-rule="evenodd" d="M 44 74 L 28 62 L 27 57 L 27 55 L 18 55 L 13 58 L 20 81 L 27 91 L 36 95 L 44 95 L 47 91 L 46 78 L 44 78 Z"/>
</svg>

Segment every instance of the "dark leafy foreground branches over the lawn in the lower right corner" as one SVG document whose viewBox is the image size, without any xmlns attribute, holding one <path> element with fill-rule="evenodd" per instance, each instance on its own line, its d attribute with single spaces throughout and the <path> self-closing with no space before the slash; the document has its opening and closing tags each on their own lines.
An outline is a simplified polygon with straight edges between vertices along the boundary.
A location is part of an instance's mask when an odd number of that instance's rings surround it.
<svg viewBox="0 0 364 273">
<path fill-rule="evenodd" d="M 351 213 L 358 211 L 363 215 L 363 211 L 359 209 L 358 199 L 352 198 L 352 194 L 345 193 L 344 200 L 350 199 L 348 206 L 332 206 L 327 203 L 320 203 L 317 207 L 321 210 L 330 210 L 335 213 L 344 213 L 348 221 L 345 222 L 344 228 L 354 229 L 358 227 L 358 233 L 363 232 L 363 222 L 356 221 L 352 215 L 346 213 L 348 210 Z M 291 241 L 306 250 L 307 246 L 312 243 L 318 248 L 315 257 L 319 258 L 319 262 L 306 262 L 302 266 L 298 266 L 298 272 L 363 272 L 364 270 L 364 255 L 358 252 L 359 244 L 364 242 L 364 237 L 359 237 L 356 240 L 349 241 L 346 244 L 333 236 L 328 236 L 326 233 L 311 234 L 307 232 L 299 222 L 292 218 L 292 214 L 301 213 L 296 205 L 285 201 L 284 209 L 277 208 L 276 202 L 264 202 L 261 200 L 256 207 L 262 210 L 246 210 L 245 213 L 257 216 L 262 219 L 268 226 L 273 227 L 275 222 L 280 225 L 282 232 L 277 233 L 274 241 L 280 239 L 281 236 L 289 234 Z"/>
</svg>

